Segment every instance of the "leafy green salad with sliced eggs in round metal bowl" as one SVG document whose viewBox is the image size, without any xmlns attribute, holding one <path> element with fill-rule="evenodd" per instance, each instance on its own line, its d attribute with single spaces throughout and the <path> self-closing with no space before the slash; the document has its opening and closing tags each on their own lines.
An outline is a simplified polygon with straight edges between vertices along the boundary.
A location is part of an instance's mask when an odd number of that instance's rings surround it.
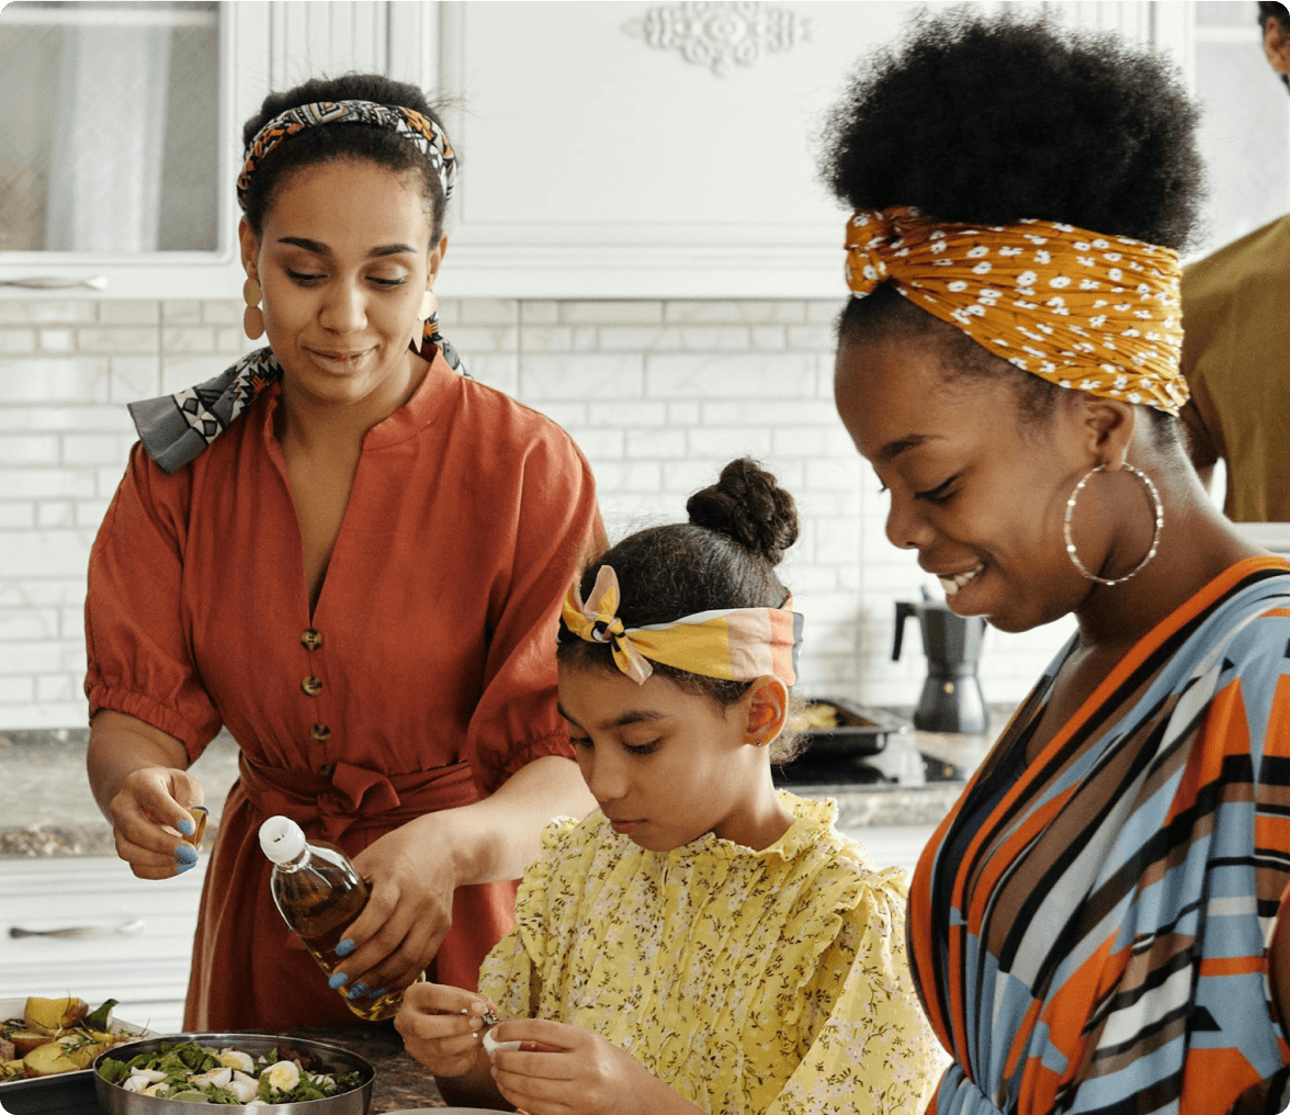
<svg viewBox="0 0 1290 1115">
<path fill-rule="evenodd" d="M 322 1067 L 316 1058 L 281 1041 L 272 1056 L 259 1057 L 231 1047 L 163 1041 L 156 1053 L 141 1053 L 129 1061 L 107 1058 L 98 1074 L 126 1092 L 157 1100 L 248 1107 L 324 1100 L 362 1083 L 360 1072 L 325 1072 Z"/>
</svg>

